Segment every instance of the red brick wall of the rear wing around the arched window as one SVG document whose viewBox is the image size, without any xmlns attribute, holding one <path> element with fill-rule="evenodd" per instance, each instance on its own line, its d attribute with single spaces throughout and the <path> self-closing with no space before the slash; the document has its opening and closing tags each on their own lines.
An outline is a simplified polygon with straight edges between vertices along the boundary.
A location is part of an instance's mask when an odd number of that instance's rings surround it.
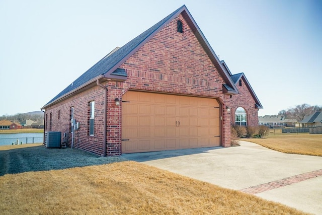
<svg viewBox="0 0 322 215">
<path fill-rule="evenodd" d="M 255 100 L 253 99 L 249 89 L 245 84 L 244 78 L 241 78 L 241 86 L 237 83 L 238 95 L 232 95 L 230 99 L 230 113 L 232 125 L 235 123 L 235 111 L 238 107 L 242 107 L 247 113 L 247 125 L 258 125 L 258 109 L 255 108 Z"/>
</svg>

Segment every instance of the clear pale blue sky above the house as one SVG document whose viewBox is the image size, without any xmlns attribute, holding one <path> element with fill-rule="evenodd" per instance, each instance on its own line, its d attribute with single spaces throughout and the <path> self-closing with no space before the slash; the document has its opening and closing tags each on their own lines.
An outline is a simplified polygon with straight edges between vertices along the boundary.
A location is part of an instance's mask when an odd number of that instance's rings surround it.
<svg viewBox="0 0 322 215">
<path fill-rule="evenodd" d="M 186 5 L 264 109 L 322 105 L 322 1 L 0 0 L 0 116 L 40 110 L 87 69 Z"/>
</svg>

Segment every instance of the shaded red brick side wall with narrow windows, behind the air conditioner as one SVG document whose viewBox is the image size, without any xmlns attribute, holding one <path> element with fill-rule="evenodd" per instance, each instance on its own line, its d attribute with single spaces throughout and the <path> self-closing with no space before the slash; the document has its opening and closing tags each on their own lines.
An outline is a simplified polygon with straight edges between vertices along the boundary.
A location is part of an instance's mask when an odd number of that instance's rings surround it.
<svg viewBox="0 0 322 215">
<path fill-rule="evenodd" d="M 80 93 L 72 98 L 64 100 L 59 104 L 53 105 L 46 109 L 47 114 L 47 131 L 49 131 L 49 116 L 52 113 L 52 131 L 61 131 L 61 139 L 63 133 L 67 133 L 68 143 L 71 147 L 70 133 L 70 107 L 74 107 L 74 119 L 80 123 L 79 130 L 74 131 L 73 147 L 77 145 L 79 149 L 83 149 L 97 155 L 104 155 L 104 93 L 105 90 L 101 87 L 93 87 L 83 93 Z M 89 135 L 89 119 L 90 106 L 89 103 L 95 101 L 95 120 L 94 120 L 94 136 Z M 58 111 L 60 110 L 60 118 L 58 119 Z"/>
</svg>

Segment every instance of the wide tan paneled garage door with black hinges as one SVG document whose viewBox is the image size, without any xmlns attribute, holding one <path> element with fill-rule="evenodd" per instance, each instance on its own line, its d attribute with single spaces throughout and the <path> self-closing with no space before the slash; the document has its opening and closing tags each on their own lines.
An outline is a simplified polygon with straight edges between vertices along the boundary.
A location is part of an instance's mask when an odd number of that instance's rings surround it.
<svg viewBox="0 0 322 215">
<path fill-rule="evenodd" d="M 129 91 L 122 101 L 123 154 L 220 145 L 216 99 Z"/>
</svg>

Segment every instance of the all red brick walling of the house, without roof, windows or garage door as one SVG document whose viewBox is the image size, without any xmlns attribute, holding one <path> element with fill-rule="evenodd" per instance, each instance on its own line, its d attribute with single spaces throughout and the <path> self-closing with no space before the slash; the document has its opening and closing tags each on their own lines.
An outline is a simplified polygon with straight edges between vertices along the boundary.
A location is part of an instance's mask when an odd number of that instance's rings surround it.
<svg viewBox="0 0 322 215">
<path fill-rule="evenodd" d="M 177 20 L 183 22 L 184 33 L 177 32 Z M 128 90 L 166 92 L 182 95 L 217 98 L 221 106 L 221 142 L 223 147 L 230 146 L 230 125 L 232 109 L 228 113 L 226 105 L 243 106 L 253 114 L 254 101 L 249 101 L 247 92 L 235 95 L 222 93 L 224 81 L 218 74 L 207 54 L 189 29 L 182 16 L 177 17 L 153 38 L 136 51 L 121 66 L 126 69 L 128 79 L 122 83 L 108 82 L 107 94 L 107 155 L 121 155 L 122 103 L 115 105 L 115 98 L 122 98 Z M 74 107 L 74 118 L 81 123 L 75 131 L 74 147 L 103 155 L 104 152 L 104 93 L 101 87 L 93 87 L 72 98 L 46 109 L 48 117 L 52 113 L 52 130 L 66 132 L 68 145 L 71 145 L 70 107 Z M 241 101 L 238 101 L 238 98 Z M 95 136 L 89 136 L 89 102 L 95 101 Z M 58 119 L 60 110 L 60 119 Z M 257 117 L 257 111 L 256 117 Z M 46 120 L 49 121 L 48 119 Z M 253 115 L 249 120 L 253 123 Z M 48 122 L 49 123 L 49 122 Z M 255 121 L 254 121 L 255 123 Z M 47 125 L 47 130 L 49 125 Z M 79 135 L 79 137 L 78 137 Z"/>
</svg>

